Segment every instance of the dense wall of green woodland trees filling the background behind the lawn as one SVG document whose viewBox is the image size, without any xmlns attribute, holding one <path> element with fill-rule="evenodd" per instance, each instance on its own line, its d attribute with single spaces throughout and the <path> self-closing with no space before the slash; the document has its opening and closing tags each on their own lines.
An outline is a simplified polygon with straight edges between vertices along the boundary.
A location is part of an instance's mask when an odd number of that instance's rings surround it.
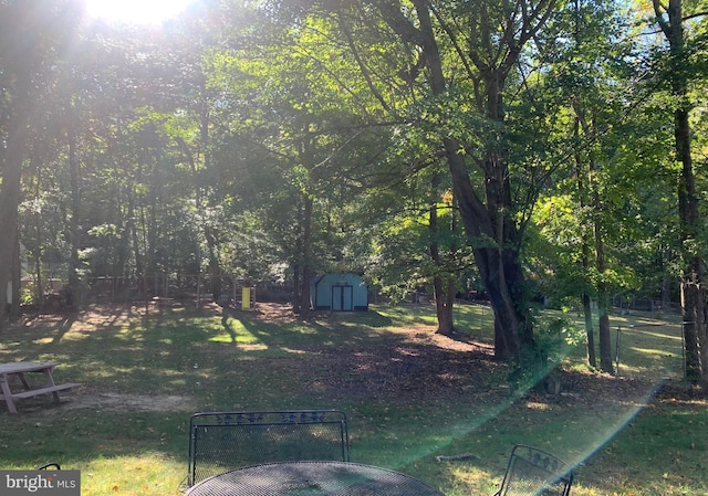
<svg viewBox="0 0 708 496">
<path fill-rule="evenodd" d="M 612 297 L 680 294 L 702 328 L 705 10 L 199 0 L 148 29 L 0 1 L 12 312 L 54 278 L 80 304 L 196 276 L 289 287 L 308 314 L 310 279 L 348 271 L 429 293 L 440 333 L 485 294 L 520 363 L 543 299 L 584 309 L 595 366 L 594 302 L 611 371 Z"/>
</svg>

